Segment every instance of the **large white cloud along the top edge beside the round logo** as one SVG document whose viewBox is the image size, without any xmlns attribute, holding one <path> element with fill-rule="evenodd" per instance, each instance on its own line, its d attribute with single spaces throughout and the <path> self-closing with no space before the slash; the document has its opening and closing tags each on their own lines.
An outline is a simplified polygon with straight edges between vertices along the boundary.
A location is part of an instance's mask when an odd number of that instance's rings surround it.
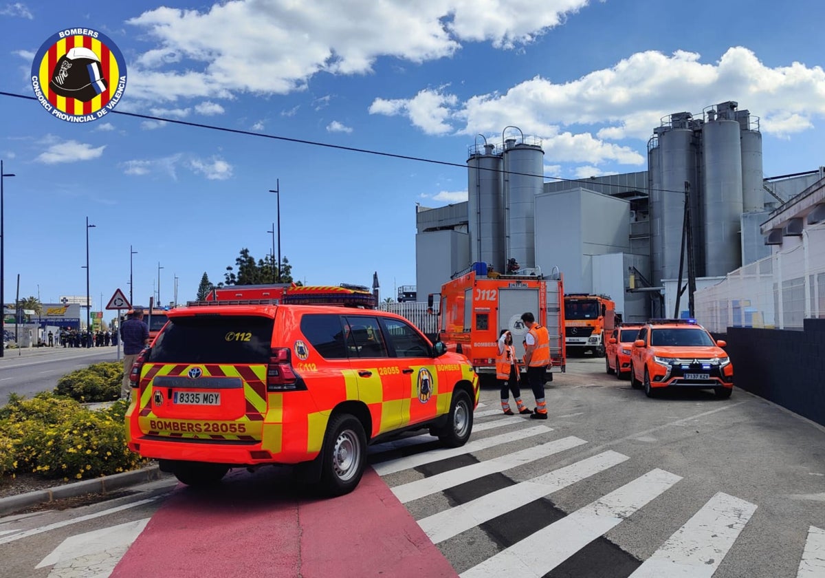
<svg viewBox="0 0 825 578">
<path fill-rule="evenodd" d="M 342 10 L 340 0 L 315 0 L 220 2 L 205 12 L 158 7 L 127 21 L 157 43 L 130 63 L 130 96 L 174 101 L 285 94 L 304 90 L 317 73 L 370 73 L 381 57 L 422 63 L 449 57 L 464 42 L 512 48 L 587 3 L 384 0 L 347 2 Z"/>
</svg>

